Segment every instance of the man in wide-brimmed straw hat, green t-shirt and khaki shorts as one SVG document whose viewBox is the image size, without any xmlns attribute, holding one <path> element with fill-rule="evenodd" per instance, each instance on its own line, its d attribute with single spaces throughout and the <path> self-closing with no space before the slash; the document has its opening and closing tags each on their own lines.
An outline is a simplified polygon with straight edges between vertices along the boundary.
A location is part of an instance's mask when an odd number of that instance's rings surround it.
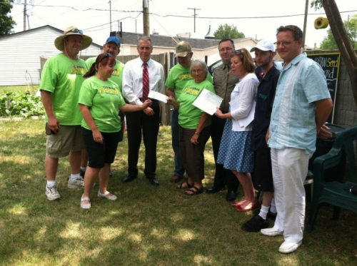
<svg viewBox="0 0 357 266">
<path fill-rule="evenodd" d="M 56 186 L 59 158 L 69 155 L 71 176 L 68 188 L 83 188 L 84 180 L 79 175 L 81 150 L 81 112 L 78 97 L 83 75 L 87 71 L 79 51 L 88 48 L 92 39 L 75 26 L 64 30 L 54 45 L 62 53 L 49 58 L 44 65 L 40 83 L 41 99 L 46 111 L 46 196 L 48 200 L 60 198 Z"/>
</svg>

